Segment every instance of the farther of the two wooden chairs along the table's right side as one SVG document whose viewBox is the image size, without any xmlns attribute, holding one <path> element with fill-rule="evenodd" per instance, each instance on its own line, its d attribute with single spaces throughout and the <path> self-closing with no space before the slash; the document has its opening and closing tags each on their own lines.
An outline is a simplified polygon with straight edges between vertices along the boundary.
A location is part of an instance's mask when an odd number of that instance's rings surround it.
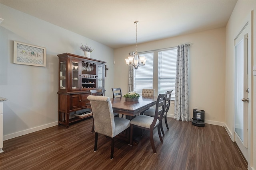
<svg viewBox="0 0 256 170">
<path fill-rule="evenodd" d="M 165 121 L 165 125 L 166 125 L 166 128 L 167 128 L 168 130 L 169 130 L 169 127 L 168 127 L 168 123 L 167 123 L 167 113 L 168 113 L 168 110 L 169 110 L 170 105 L 171 105 L 171 94 L 172 94 L 172 90 L 167 91 L 167 96 L 166 96 L 166 109 L 165 109 L 164 115 L 163 115 L 163 117 L 162 117 L 162 119 L 164 119 L 164 121 Z M 154 109 L 148 109 L 148 110 L 144 111 L 144 115 L 148 115 L 148 116 L 154 117 Z M 163 134 L 163 136 L 164 136 L 165 134 L 164 134 L 164 129 L 163 129 L 162 120 L 160 120 L 160 127 L 161 127 L 162 134 Z"/>
</svg>

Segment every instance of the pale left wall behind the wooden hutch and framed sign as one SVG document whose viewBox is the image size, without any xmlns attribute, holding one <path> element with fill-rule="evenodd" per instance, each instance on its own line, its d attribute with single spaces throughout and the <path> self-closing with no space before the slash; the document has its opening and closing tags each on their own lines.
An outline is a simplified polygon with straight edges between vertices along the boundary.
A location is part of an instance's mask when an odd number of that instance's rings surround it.
<svg viewBox="0 0 256 170">
<path fill-rule="evenodd" d="M 4 102 L 4 140 L 57 125 L 58 56 L 84 56 L 80 43 L 95 49 L 91 58 L 106 61 L 106 96 L 112 96 L 114 50 L 1 4 L 0 96 Z M 13 41 L 46 47 L 46 67 L 13 64 Z M 65 128 L 63 126 L 63 128 Z"/>
</svg>

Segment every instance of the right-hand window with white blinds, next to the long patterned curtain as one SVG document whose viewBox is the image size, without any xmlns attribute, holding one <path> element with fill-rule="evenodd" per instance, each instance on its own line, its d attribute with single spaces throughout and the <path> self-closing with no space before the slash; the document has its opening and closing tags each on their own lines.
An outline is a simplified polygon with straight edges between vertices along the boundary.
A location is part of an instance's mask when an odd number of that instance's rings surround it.
<svg viewBox="0 0 256 170">
<path fill-rule="evenodd" d="M 173 90 L 171 98 L 175 98 L 175 78 L 177 48 L 158 52 L 158 94 Z"/>
</svg>

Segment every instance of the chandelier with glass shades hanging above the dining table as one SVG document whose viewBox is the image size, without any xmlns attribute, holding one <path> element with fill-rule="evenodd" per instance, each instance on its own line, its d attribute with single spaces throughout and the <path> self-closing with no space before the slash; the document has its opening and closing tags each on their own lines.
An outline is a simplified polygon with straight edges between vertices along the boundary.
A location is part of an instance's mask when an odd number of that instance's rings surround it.
<svg viewBox="0 0 256 170">
<path fill-rule="evenodd" d="M 133 66 L 135 69 L 138 69 L 139 66 L 145 66 L 147 59 L 145 57 L 140 57 L 137 52 L 137 24 L 139 21 L 135 21 L 134 23 L 136 24 L 136 52 L 131 52 L 130 56 L 128 59 L 125 59 L 125 61 L 127 66 Z"/>
</svg>

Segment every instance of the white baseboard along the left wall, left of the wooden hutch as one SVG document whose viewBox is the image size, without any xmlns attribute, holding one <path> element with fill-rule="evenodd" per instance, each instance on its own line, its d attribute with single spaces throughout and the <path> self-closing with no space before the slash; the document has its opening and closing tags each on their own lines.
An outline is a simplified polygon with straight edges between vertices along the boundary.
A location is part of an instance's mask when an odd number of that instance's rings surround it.
<svg viewBox="0 0 256 170">
<path fill-rule="evenodd" d="M 48 127 L 53 127 L 53 126 L 56 126 L 58 125 L 58 121 L 56 122 L 53 122 L 53 123 L 49 123 L 49 124 L 46 124 L 46 125 L 42 125 L 42 126 L 38 126 L 38 127 L 33 127 L 31 129 L 26 129 L 24 131 L 19 131 L 19 132 L 16 132 L 16 133 L 12 133 L 12 134 L 9 134 L 9 135 L 4 135 L 3 136 L 3 140 L 6 141 L 8 139 L 12 139 L 12 138 L 15 138 L 15 137 L 19 137 L 19 136 L 22 136 L 22 135 L 26 135 L 28 133 L 32 133 L 32 132 L 36 132 L 36 131 L 40 131 L 42 129 L 46 129 Z"/>
</svg>

